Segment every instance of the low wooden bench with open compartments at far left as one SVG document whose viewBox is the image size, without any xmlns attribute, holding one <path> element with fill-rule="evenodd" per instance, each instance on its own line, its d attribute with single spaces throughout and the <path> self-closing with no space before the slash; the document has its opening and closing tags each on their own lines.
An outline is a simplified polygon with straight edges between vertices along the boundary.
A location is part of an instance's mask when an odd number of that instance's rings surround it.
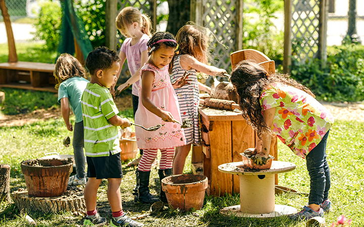
<svg viewBox="0 0 364 227">
<path fill-rule="evenodd" d="M 54 64 L 36 62 L 0 63 L 0 87 L 50 91 L 56 80 Z"/>
</svg>

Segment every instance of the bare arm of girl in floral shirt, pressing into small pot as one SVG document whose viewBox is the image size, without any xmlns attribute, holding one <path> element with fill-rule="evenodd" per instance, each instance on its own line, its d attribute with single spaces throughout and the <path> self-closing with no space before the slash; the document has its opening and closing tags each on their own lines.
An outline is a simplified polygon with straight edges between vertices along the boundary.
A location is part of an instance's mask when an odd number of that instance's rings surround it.
<svg viewBox="0 0 364 227">
<path fill-rule="evenodd" d="M 263 111 L 263 118 L 266 126 L 268 128 L 271 128 L 273 125 L 274 116 L 276 113 L 276 107 L 269 108 Z M 266 159 L 269 155 L 269 149 L 270 149 L 270 141 L 271 141 L 271 134 L 270 133 L 263 133 L 261 140 L 258 140 L 256 143 L 256 152 L 254 158 L 254 163 L 261 165 L 263 162 L 266 162 Z M 265 161 L 263 161 L 265 159 Z"/>
</svg>

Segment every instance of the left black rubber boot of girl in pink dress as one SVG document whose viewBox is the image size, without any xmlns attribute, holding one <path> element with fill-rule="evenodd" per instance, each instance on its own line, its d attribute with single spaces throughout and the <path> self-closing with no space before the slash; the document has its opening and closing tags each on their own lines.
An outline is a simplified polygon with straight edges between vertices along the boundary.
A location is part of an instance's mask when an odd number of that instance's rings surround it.
<svg viewBox="0 0 364 227">
<path fill-rule="evenodd" d="M 135 171 L 136 187 L 134 190 L 134 202 L 155 203 L 160 201 L 149 192 L 149 176 L 150 171 Z"/>
</svg>

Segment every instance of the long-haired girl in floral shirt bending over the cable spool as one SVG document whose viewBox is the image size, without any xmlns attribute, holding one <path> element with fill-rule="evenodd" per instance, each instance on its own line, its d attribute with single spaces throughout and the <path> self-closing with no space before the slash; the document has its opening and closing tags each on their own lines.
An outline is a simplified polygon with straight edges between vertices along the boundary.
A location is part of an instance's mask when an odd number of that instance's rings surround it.
<svg viewBox="0 0 364 227">
<path fill-rule="evenodd" d="M 284 75 L 268 75 L 261 66 L 242 61 L 232 73 L 231 81 L 239 94 L 243 116 L 257 131 L 260 140 L 254 162 L 266 162 L 272 135 L 296 155 L 306 159 L 310 176 L 308 205 L 291 215 L 292 219 L 324 216 L 329 211 L 330 170 L 326 160 L 326 142 L 334 118 L 312 92 Z"/>
</svg>

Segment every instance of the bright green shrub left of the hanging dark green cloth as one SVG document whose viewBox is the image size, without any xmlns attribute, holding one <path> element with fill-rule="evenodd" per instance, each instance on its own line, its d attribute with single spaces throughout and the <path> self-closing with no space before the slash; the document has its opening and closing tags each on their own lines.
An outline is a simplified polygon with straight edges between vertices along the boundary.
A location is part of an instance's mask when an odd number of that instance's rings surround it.
<svg viewBox="0 0 364 227">
<path fill-rule="evenodd" d="M 60 39 L 60 27 L 62 10 L 56 2 L 45 1 L 39 3 L 40 11 L 35 23 L 36 40 L 44 40 L 44 49 L 53 50 L 57 48 Z"/>
</svg>

